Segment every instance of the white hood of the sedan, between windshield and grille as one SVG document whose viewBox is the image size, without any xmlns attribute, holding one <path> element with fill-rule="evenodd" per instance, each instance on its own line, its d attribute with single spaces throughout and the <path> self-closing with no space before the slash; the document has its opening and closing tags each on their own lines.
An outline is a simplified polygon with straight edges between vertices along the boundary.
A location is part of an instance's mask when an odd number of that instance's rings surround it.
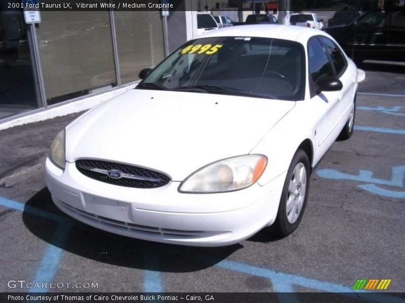
<svg viewBox="0 0 405 303">
<path fill-rule="evenodd" d="M 246 155 L 295 102 L 130 89 L 66 127 L 66 161 L 99 159 L 182 181 L 200 167 Z"/>
</svg>

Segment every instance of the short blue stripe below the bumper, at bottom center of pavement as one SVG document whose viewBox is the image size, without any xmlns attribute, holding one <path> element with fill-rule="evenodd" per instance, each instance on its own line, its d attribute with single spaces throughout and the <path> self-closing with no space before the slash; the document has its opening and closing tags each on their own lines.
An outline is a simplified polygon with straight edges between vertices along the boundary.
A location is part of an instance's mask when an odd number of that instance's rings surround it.
<svg viewBox="0 0 405 303">
<path fill-rule="evenodd" d="M 145 251 L 144 255 L 145 269 L 143 274 L 143 291 L 144 292 L 163 292 L 163 279 L 160 268 L 158 252 Z"/>
</svg>

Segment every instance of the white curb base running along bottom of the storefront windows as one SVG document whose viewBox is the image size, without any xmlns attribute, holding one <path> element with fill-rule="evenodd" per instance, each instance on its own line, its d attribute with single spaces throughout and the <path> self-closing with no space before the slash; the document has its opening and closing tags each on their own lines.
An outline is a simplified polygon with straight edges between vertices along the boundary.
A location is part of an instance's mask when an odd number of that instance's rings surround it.
<svg viewBox="0 0 405 303">
<path fill-rule="evenodd" d="M 100 103 L 106 102 L 107 100 L 135 87 L 136 84 L 127 86 L 124 88 L 119 88 L 116 90 L 108 91 L 105 93 L 97 94 L 78 100 L 76 102 L 71 102 L 65 105 L 57 106 L 51 109 L 44 109 L 44 111 L 32 113 L 31 115 L 26 115 L 23 117 L 18 117 L 14 120 L 6 121 L 0 124 L 0 130 L 7 129 L 10 127 L 23 125 L 32 122 L 44 121 L 52 119 L 55 117 L 66 116 L 73 113 L 78 113 L 85 111 L 99 105 Z"/>
</svg>

